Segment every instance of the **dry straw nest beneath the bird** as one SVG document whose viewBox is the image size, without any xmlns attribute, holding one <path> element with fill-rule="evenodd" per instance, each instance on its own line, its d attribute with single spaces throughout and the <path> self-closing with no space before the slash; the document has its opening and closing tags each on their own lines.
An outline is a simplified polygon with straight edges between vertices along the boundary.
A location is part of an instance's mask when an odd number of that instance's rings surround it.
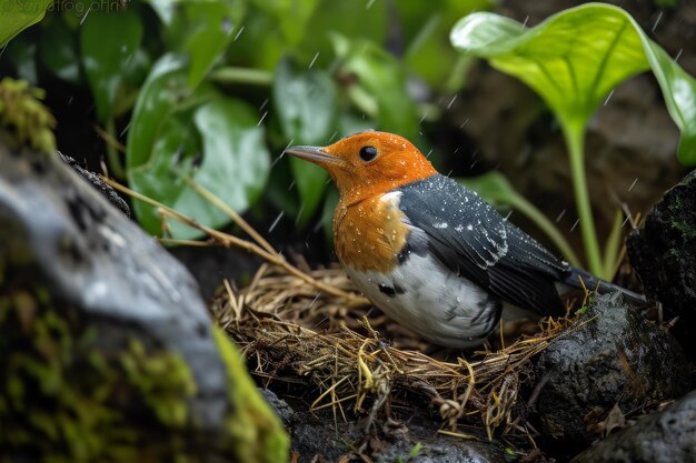
<svg viewBox="0 0 696 463">
<path fill-rule="evenodd" d="M 448 434 L 464 417 L 479 416 L 490 439 L 495 430 L 518 427 L 513 410 L 520 375 L 569 321 L 546 320 L 535 336 L 515 341 L 471 360 L 447 362 L 422 353 L 427 344 L 385 316 L 368 321 L 369 302 L 340 269 L 307 271 L 309 279 L 262 265 L 251 284 L 226 292 L 212 312 L 242 346 L 251 372 L 266 381 L 316 387 L 310 410 L 331 407 L 346 417 L 346 406 L 368 415 L 368 427 L 386 414 L 400 392 L 421 394 L 437 405 Z M 317 290 L 317 284 L 336 294 Z M 345 294 L 345 295 L 341 295 Z M 386 342 L 378 330 L 396 335 Z M 369 404 L 366 405 L 366 404 Z"/>
</svg>

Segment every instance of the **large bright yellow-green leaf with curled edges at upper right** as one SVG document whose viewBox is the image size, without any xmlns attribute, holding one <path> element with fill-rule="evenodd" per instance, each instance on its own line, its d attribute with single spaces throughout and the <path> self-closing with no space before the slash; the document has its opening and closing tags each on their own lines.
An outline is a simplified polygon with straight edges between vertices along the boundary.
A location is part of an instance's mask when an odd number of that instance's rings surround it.
<svg viewBox="0 0 696 463">
<path fill-rule="evenodd" d="M 620 82 L 652 69 L 682 130 L 679 159 L 696 164 L 696 82 L 624 10 L 585 4 L 527 29 L 494 13 L 463 18 L 450 36 L 536 90 L 564 124 L 584 127 Z"/>
</svg>

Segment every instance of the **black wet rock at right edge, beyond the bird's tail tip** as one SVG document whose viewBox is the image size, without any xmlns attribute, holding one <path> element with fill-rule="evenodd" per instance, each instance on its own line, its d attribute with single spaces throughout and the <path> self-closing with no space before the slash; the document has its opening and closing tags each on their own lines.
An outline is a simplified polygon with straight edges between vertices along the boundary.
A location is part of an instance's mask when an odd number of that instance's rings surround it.
<svg viewBox="0 0 696 463">
<path fill-rule="evenodd" d="M 696 171 L 665 193 L 628 238 L 628 255 L 646 294 L 676 318 L 672 333 L 696 360 Z"/>
</svg>

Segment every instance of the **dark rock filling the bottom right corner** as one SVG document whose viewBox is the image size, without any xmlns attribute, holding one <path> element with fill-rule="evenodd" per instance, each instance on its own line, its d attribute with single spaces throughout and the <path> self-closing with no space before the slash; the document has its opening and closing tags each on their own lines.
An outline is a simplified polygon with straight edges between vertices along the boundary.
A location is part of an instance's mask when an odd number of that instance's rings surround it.
<svg viewBox="0 0 696 463">
<path fill-rule="evenodd" d="M 576 456 L 571 463 L 696 461 L 696 391 L 638 420 Z"/>
</svg>

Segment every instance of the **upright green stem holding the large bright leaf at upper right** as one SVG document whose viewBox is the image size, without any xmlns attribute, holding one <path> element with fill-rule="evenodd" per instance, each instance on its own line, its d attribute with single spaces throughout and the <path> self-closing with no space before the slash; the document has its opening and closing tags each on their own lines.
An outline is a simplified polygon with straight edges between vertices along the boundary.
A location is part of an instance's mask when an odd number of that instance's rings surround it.
<svg viewBox="0 0 696 463">
<path fill-rule="evenodd" d="M 568 145 L 568 157 L 570 159 L 570 174 L 573 175 L 573 190 L 575 193 L 575 205 L 580 221 L 580 233 L 585 244 L 585 255 L 587 256 L 588 269 L 599 278 L 606 278 L 605 269 L 599 254 L 599 243 L 595 230 L 589 194 L 587 192 L 587 180 L 585 177 L 585 124 L 575 121 L 561 121 L 563 133 Z"/>
</svg>

